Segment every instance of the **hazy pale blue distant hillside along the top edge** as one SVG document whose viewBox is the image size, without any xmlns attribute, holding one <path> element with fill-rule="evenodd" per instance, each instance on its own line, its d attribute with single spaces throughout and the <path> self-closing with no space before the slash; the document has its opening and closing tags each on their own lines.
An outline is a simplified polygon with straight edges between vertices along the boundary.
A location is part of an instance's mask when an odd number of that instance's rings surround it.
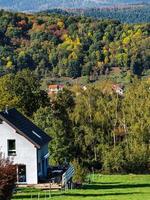
<svg viewBox="0 0 150 200">
<path fill-rule="evenodd" d="M 0 8 L 40 11 L 52 8 L 98 8 L 123 4 L 150 3 L 150 0 L 0 0 Z"/>
</svg>

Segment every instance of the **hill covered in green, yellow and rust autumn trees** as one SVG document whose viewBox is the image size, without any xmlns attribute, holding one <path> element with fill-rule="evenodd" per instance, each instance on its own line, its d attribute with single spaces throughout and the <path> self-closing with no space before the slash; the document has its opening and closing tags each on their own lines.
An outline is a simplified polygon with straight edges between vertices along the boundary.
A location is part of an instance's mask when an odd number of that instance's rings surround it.
<svg viewBox="0 0 150 200">
<path fill-rule="evenodd" d="M 0 74 L 24 68 L 72 78 L 150 67 L 150 24 L 0 12 Z M 128 73 L 127 73 L 128 74 Z"/>
</svg>

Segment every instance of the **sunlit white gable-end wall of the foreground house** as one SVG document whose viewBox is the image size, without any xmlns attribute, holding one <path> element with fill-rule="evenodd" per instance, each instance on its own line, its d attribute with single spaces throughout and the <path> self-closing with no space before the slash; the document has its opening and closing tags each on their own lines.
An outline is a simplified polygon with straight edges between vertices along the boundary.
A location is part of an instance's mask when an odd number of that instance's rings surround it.
<svg viewBox="0 0 150 200">
<path fill-rule="evenodd" d="M 26 165 L 27 184 L 37 184 L 37 148 L 25 137 L 3 122 L 0 124 L 0 151 L 8 157 L 7 140 L 16 140 L 16 156 L 11 156 L 14 164 Z"/>
</svg>

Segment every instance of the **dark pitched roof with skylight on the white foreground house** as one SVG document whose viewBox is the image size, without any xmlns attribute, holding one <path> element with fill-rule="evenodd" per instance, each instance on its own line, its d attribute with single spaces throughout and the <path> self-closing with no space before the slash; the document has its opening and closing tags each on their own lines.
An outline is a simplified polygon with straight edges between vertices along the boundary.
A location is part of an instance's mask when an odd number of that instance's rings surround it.
<svg viewBox="0 0 150 200">
<path fill-rule="evenodd" d="M 0 112 L 0 119 L 8 123 L 18 134 L 24 136 L 37 148 L 40 148 L 51 140 L 51 137 L 15 108 Z"/>
</svg>

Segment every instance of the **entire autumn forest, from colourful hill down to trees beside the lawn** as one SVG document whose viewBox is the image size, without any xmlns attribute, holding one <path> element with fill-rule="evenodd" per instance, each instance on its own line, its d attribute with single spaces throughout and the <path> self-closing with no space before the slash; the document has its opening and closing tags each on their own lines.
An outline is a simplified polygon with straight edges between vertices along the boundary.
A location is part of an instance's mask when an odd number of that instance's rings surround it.
<svg viewBox="0 0 150 200">
<path fill-rule="evenodd" d="M 0 11 L 0 109 L 16 107 L 53 138 L 54 165 L 149 172 L 149 73 L 149 23 Z M 61 77 L 86 77 L 86 87 L 48 97 L 41 83 Z"/>
</svg>

